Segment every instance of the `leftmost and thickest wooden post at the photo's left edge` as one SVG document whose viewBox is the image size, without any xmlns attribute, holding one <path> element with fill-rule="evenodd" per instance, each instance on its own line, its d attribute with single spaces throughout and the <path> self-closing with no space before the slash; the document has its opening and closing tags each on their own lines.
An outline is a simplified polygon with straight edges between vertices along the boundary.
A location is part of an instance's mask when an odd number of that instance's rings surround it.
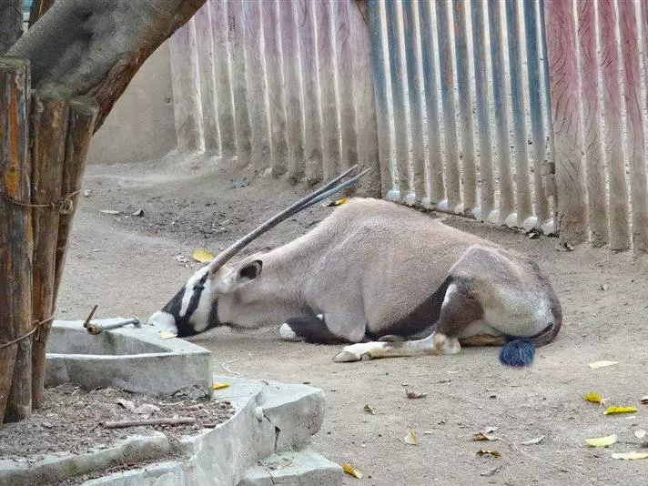
<svg viewBox="0 0 648 486">
<path fill-rule="evenodd" d="M 0 58 L 0 346 L 32 329 L 29 86 L 29 61 Z M 28 338 L 0 348 L 0 425 L 31 413 L 30 353 Z"/>
</svg>

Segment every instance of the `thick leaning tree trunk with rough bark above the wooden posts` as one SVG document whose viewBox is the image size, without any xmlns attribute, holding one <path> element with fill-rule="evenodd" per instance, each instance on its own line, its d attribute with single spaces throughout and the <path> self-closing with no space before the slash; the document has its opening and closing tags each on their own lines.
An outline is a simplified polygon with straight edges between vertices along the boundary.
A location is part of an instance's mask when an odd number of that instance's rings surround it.
<svg viewBox="0 0 648 486">
<path fill-rule="evenodd" d="M 8 56 L 31 61 L 33 86 L 55 81 L 99 105 L 95 131 L 142 64 L 205 0 L 56 2 Z"/>
</svg>

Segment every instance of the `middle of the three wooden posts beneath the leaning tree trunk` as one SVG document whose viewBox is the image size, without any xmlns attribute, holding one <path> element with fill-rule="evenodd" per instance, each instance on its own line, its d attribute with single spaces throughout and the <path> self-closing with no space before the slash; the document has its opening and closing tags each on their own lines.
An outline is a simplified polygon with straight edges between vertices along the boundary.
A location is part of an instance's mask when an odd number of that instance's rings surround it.
<svg viewBox="0 0 648 486">
<path fill-rule="evenodd" d="M 66 130 L 70 91 L 49 85 L 35 92 L 32 103 L 32 204 L 47 205 L 61 197 L 61 179 L 66 157 Z M 57 208 L 34 208 L 34 319 L 51 317 L 54 309 L 56 246 L 59 224 Z M 45 346 L 51 322 L 36 332 L 32 341 L 32 398 L 43 405 Z"/>
</svg>

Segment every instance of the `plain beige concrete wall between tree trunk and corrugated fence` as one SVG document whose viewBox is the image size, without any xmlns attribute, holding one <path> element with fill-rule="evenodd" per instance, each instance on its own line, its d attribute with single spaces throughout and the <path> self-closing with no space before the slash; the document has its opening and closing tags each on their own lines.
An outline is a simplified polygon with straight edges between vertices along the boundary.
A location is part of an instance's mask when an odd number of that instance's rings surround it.
<svg viewBox="0 0 648 486">
<path fill-rule="evenodd" d="M 88 162 L 142 162 L 176 146 L 167 41 L 147 59 L 96 132 Z"/>
</svg>

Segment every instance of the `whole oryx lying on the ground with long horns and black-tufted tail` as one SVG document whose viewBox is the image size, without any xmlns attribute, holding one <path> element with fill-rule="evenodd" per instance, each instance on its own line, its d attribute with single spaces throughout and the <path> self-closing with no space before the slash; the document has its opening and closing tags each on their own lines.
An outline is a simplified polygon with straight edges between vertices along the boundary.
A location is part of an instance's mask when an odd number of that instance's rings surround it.
<svg viewBox="0 0 648 486">
<path fill-rule="evenodd" d="M 352 343 L 335 361 L 490 345 L 503 346 L 503 363 L 524 366 L 534 347 L 556 336 L 561 305 L 532 260 L 380 199 L 352 198 L 306 235 L 225 265 L 261 233 L 338 191 L 330 187 L 343 176 L 199 268 L 149 323 L 187 337 L 283 322 L 283 339 Z"/>
</svg>

